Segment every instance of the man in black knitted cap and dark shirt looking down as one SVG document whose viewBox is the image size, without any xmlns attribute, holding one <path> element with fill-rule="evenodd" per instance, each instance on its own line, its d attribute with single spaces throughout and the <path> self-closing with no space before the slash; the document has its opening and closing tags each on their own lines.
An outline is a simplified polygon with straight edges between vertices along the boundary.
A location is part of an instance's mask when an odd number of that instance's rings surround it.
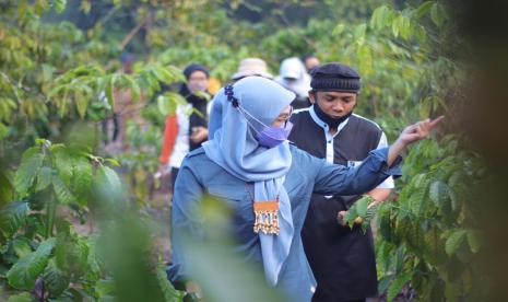
<svg viewBox="0 0 508 302">
<path fill-rule="evenodd" d="M 374 121 L 353 114 L 361 89 L 359 74 L 342 63 L 326 63 L 311 72 L 314 105 L 292 116 L 290 140 L 328 162 L 354 166 L 387 138 Z M 388 198 L 393 179 L 367 193 L 376 202 Z M 302 231 L 304 247 L 318 287 L 312 301 L 365 301 L 377 295 L 371 230 L 341 225 L 338 216 L 359 196 L 314 195 Z"/>
</svg>

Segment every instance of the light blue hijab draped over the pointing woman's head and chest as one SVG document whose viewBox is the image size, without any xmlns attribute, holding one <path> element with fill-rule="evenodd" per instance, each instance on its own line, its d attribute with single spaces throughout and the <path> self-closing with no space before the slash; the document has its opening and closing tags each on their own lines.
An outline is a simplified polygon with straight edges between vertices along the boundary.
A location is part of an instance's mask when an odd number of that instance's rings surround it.
<svg viewBox="0 0 508 302">
<path fill-rule="evenodd" d="M 264 125 L 270 125 L 295 98 L 295 94 L 272 80 L 248 77 L 233 85 L 238 105 Z M 255 200 L 279 196 L 280 234 L 259 233 L 267 281 L 276 286 L 287 258 L 294 226 L 291 204 L 283 186 L 292 156 L 287 141 L 267 149 L 259 146 L 246 114 L 234 107 L 222 89 L 213 100 L 210 115 L 211 140 L 203 143 L 206 156 L 234 176 L 255 183 Z"/>
</svg>

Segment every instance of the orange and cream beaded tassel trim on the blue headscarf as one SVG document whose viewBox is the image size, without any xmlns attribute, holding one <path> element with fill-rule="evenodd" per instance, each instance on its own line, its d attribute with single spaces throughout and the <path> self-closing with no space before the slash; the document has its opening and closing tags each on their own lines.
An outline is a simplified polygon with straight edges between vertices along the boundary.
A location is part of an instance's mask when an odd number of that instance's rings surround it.
<svg viewBox="0 0 508 302">
<path fill-rule="evenodd" d="M 279 200 L 255 201 L 253 210 L 256 221 L 253 232 L 263 234 L 279 235 L 281 228 L 279 226 Z"/>
</svg>

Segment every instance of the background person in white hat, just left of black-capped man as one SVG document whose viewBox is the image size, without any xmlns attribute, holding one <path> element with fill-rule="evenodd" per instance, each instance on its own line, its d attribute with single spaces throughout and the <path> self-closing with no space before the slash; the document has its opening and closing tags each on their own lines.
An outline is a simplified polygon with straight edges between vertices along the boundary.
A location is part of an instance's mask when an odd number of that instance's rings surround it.
<svg viewBox="0 0 508 302">
<path fill-rule="evenodd" d="M 291 104 L 293 108 L 298 109 L 310 106 L 308 98 L 310 76 L 300 59 L 296 57 L 284 59 L 275 82 L 296 94 L 295 101 Z"/>
</svg>

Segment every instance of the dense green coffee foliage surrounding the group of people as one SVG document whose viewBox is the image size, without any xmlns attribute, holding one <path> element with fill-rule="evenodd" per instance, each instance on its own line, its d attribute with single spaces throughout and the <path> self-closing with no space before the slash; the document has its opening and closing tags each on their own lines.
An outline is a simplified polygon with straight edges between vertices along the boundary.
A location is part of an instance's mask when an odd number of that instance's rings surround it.
<svg viewBox="0 0 508 302">
<path fill-rule="evenodd" d="M 436 114 L 453 124 L 461 106 L 466 67 L 437 1 L 9 0 L 0 8 L 0 297 L 11 301 L 181 299 L 153 255 L 144 209 L 157 185 L 164 117 L 182 102 L 162 85 L 181 81 L 189 62 L 208 65 L 222 82 L 246 57 L 265 59 L 272 71 L 308 53 L 348 63 L 364 79 L 356 111 L 390 139 Z M 135 54 L 130 74 L 118 72 L 125 51 Z M 141 104 L 143 123 L 128 121 L 129 149 L 108 154 L 102 121 L 121 91 Z M 401 291 L 479 300 L 487 290 L 476 267 L 473 194 L 486 175 L 464 143 L 460 133 L 438 133 L 412 148 L 392 200 L 376 209 L 388 300 Z M 371 218 L 367 202 L 356 211 Z M 85 221 L 98 231 L 78 232 Z"/>
</svg>

